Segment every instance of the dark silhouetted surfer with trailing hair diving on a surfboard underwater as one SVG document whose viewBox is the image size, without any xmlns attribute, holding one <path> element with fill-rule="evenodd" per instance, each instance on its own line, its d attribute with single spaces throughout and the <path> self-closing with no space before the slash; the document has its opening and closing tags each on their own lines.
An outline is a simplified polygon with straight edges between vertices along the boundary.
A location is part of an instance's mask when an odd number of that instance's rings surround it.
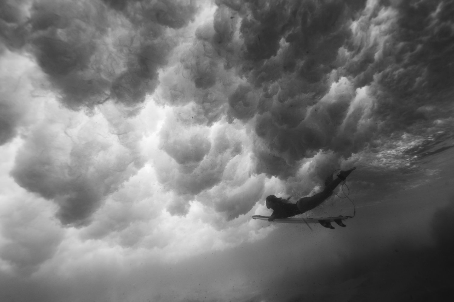
<svg viewBox="0 0 454 302">
<path fill-rule="evenodd" d="M 325 189 L 322 192 L 316 193 L 309 197 L 301 197 L 296 203 L 289 203 L 289 199 L 283 199 L 282 197 L 276 197 L 270 195 L 266 197 L 266 207 L 273 210 L 268 221 L 274 221 L 276 218 L 287 218 L 302 214 L 306 211 L 312 210 L 319 206 L 323 201 L 333 194 L 333 190 L 353 171 L 356 167 L 350 170 L 341 171 L 337 174 L 336 179 L 332 179 L 332 174 L 326 178 Z M 289 197 L 290 198 L 290 197 Z"/>
</svg>

